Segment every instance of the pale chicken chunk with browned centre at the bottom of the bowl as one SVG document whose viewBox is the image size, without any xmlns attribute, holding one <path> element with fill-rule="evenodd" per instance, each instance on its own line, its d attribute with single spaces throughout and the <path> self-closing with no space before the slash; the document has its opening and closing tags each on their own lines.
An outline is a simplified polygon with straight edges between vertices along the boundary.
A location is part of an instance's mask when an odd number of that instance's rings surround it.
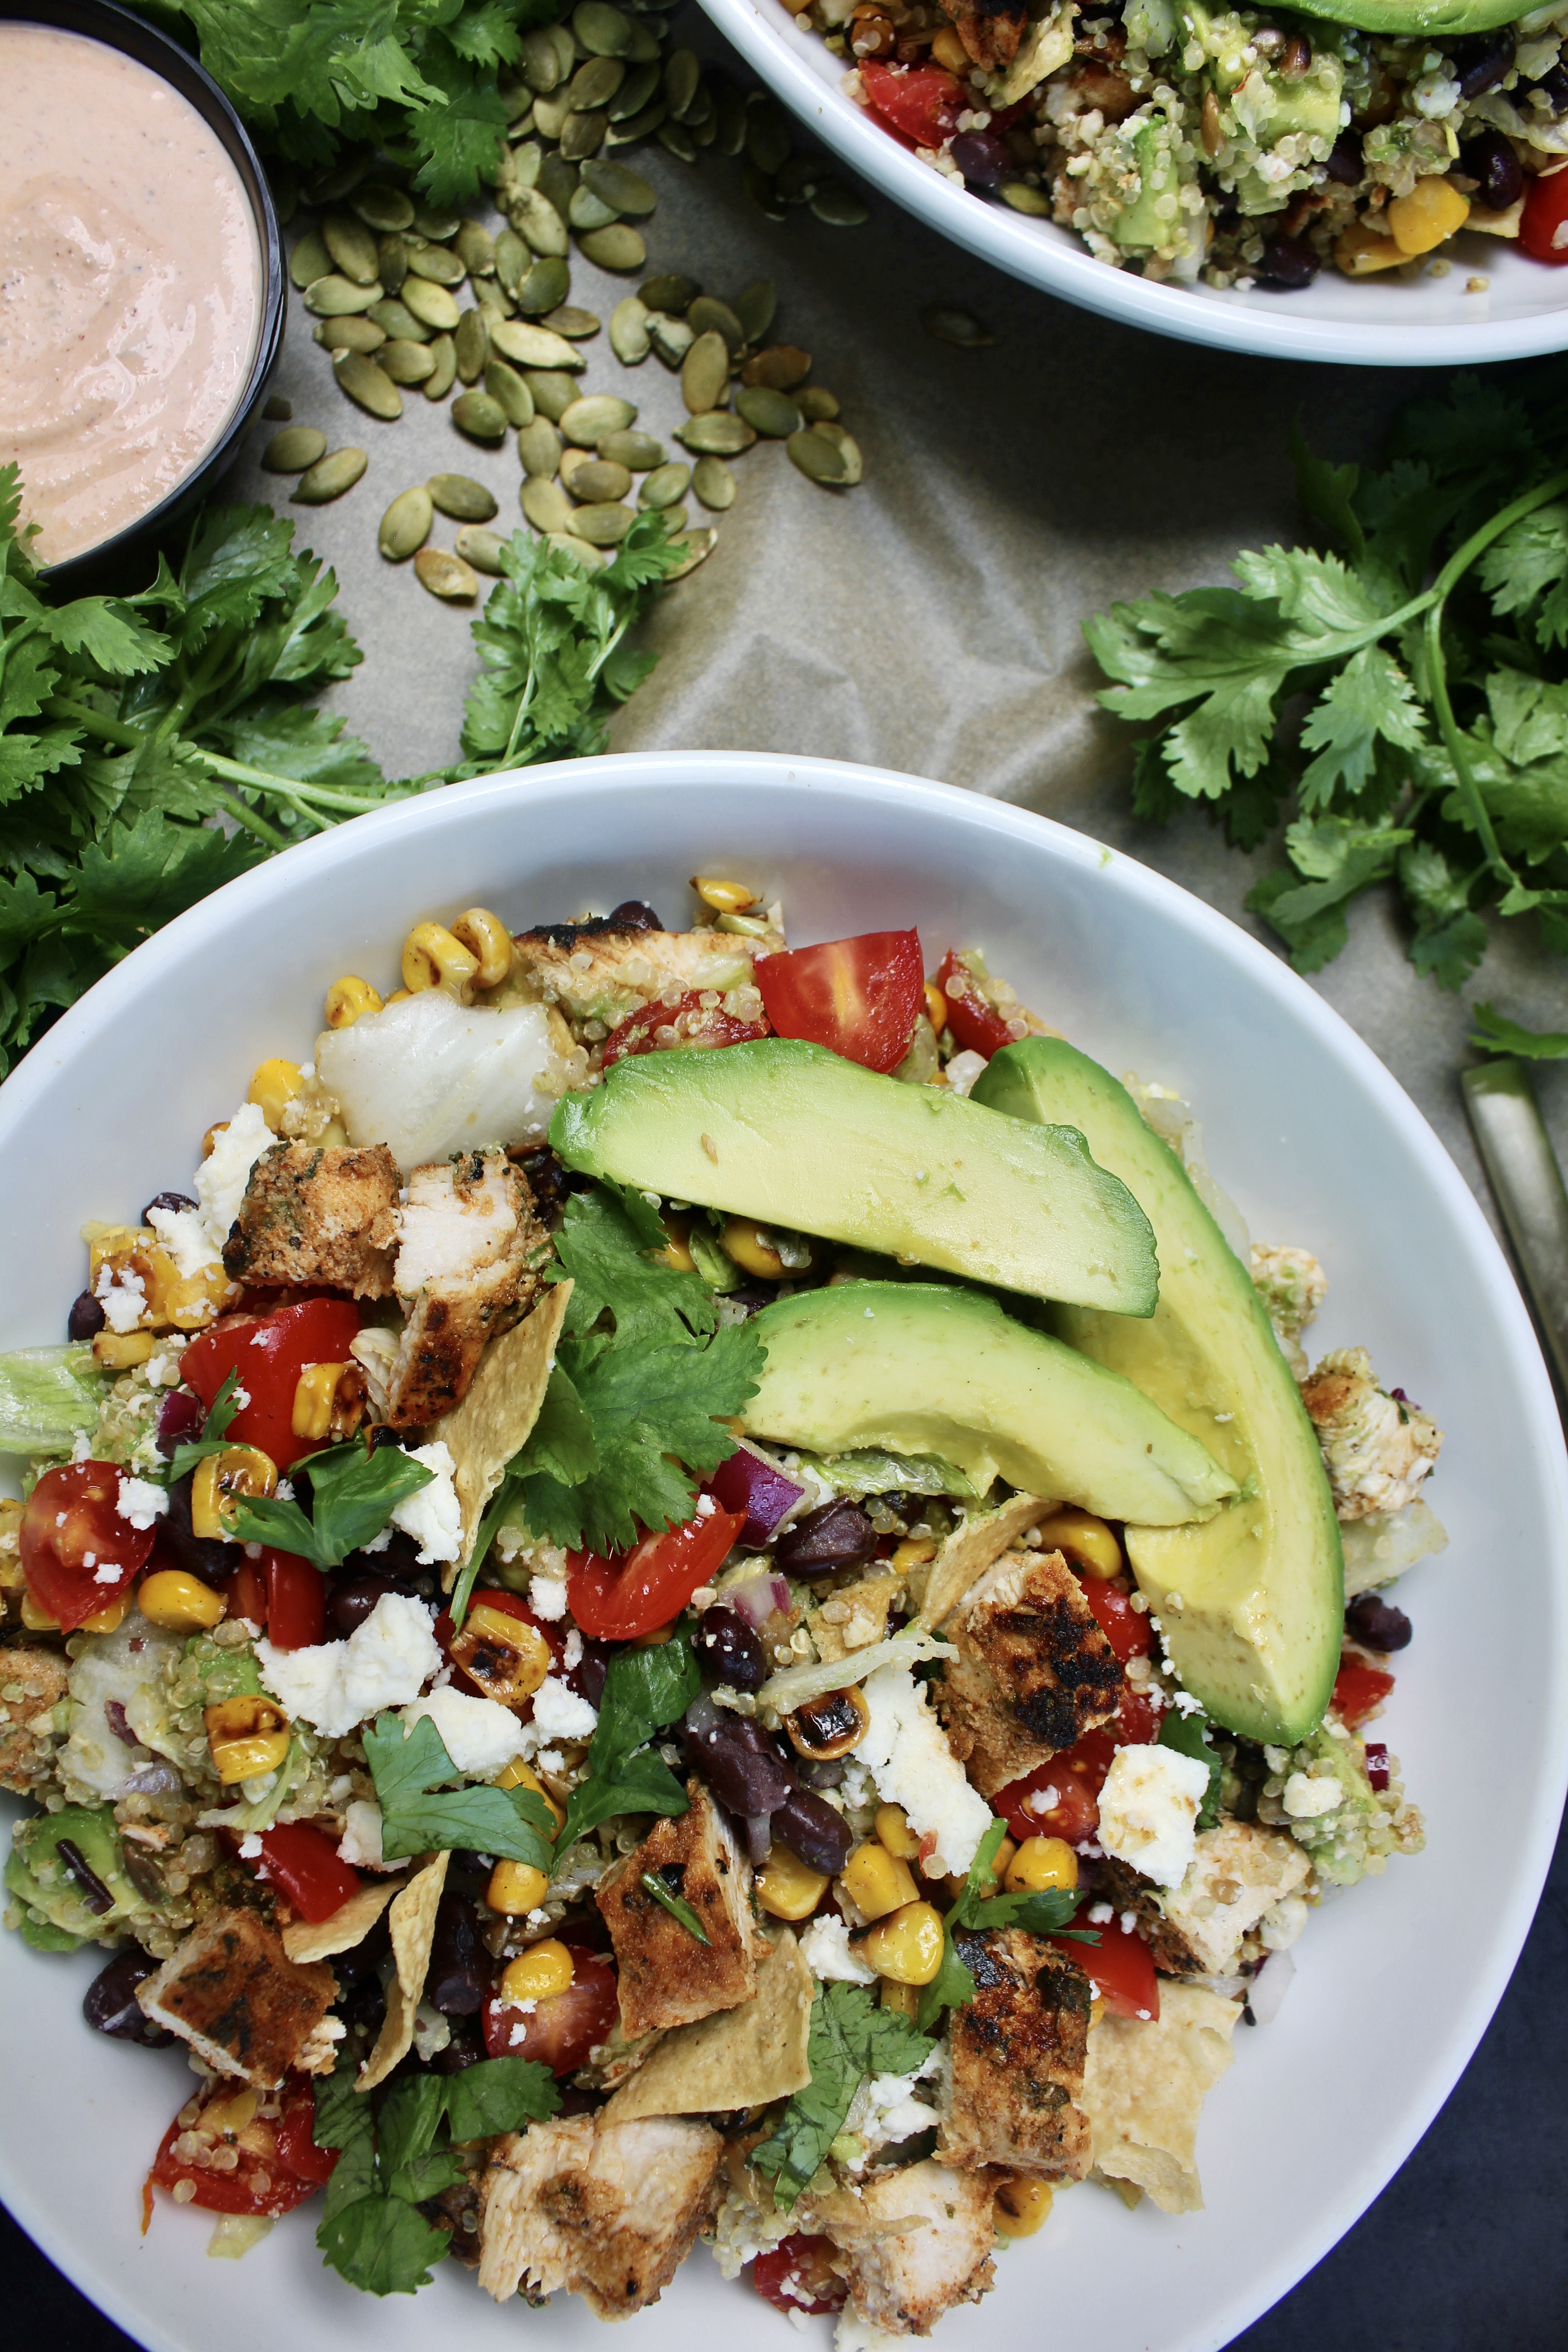
<svg viewBox="0 0 1568 2352">
<path fill-rule="evenodd" d="M 496 2140 L 480 2183 L 480 2286 L 557 2286 L 599 2319 L 656 2303 L 705 2227 L 724 2140 L 708 2124 L 557 2117 Z"/>
</svg>

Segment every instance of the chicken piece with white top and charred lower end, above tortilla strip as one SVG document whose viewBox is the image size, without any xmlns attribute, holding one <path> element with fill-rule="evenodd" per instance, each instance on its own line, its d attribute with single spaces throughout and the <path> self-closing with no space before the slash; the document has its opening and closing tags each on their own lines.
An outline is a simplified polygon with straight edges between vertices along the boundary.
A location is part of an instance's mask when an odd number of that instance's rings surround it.
<svg viewBox="0 0 1568 2352">
<path fill-rule="evenodd" d="M 550 1237 L 524 1176 L 498 1150 L 414 1169 L 397 1235 L 393 1279 L 409 1319 L 395 1359 L 367 1371 L 383 1418 L 421 1430 L 468 1395 L 484 1343 L 534 1303 Z"/>
</svg>

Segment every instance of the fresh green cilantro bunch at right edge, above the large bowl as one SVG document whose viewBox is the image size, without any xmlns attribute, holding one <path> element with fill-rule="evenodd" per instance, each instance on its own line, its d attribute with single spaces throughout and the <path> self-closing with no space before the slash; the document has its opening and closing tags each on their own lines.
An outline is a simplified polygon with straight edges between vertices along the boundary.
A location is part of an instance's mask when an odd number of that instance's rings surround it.
<svg viewBox="0 0 1568 2352">
<path fill-rule="evenodd" d="M 1568 953 L 1568 409 L 1561 362 L 1521 397 L 1460 376 L 1361 473 L 1293 435 L 1314 543 L 1239 555 L 1237 588 L 1084 626 L 1107 710 L 1154 722 L 1133 804 L 1197 800 L 1239 849 L 1286 821 L 1248 906 L 1319 971 L 1347 908 L 1396 882 L 1410 962 L 1462 988 L 1488 913 Z M 1521 1033 L 1528 1037 L 1528 1033 Z"/>
</svg>

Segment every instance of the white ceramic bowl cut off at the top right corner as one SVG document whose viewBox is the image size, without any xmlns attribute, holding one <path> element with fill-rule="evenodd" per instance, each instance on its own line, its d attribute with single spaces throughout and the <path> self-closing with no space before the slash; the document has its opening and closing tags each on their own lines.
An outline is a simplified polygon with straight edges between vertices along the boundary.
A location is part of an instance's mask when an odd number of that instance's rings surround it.
<svg viewBox="0 0 1568 2352">
<path fill-rule="evenodd" d="M 802 33 L 783 0 L 703 0 L 703 9 L 764 82 L 846 165 L 929 228 L 1011 278 L 1081 310 L 1173 334 L 1182 343 L 1255 350 L 1269 360 L 1342 360 L 1352 367 L 1481 367 L 1568 346 L 1568 268 L 1530 261 L 1505 238 L 1462 235 L 1446 278 L 1413 285 L 1321 270 L 1300 294 L 1154 285 L 1095 261 L 1056 221 L 1030 221 L 969 195 L 900 146 L 842 92 L 844 59 Z M 1467 294 L 1488 278 L 1486 294 Z M 961 294 L 961 278 L 945 289 Z"/>
</svg>

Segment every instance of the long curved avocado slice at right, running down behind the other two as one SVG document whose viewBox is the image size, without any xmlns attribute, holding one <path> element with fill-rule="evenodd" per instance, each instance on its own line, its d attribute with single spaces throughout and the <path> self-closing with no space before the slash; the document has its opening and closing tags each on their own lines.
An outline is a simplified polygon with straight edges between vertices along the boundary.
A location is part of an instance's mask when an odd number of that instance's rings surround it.
<svg viewBox="0 0 1568 2352">
<path fill-rule="evenodd" d="M 1126 1529 L 1182 1684 L 1253 1740 L 1291 1745 L 1324 1717 L 1340 1663 L 1345 1562 L 1328 1475 L 1248 1270 L 1126 1087 L 1060 1037 L 1004 1047 L 976 1096 L 1016 1120 L 1074 1120 L 1133 1185 L 1159 1242 L 1150 1322 L 1053 1308 L 1051 1327 L 1213 1446 L 1241 1494 L 1201 1526 Z"/>
</svg>

